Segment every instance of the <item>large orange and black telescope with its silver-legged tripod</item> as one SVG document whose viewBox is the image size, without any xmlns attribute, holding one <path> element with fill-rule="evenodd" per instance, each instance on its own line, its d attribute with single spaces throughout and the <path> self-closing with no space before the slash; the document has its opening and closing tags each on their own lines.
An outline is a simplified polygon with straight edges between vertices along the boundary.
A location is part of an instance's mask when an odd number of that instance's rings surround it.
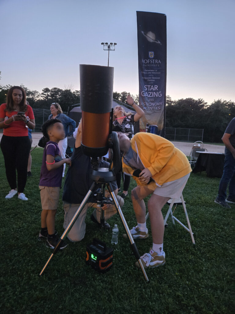
<svg viewBox="0 0 235 314">
<path fill-rule="evenodd" d="M 115 205 L 130 241 L 134 256 L 138 260 L 145 280 L 149 282 L 148 276 L 140 259 L 137 246 L 130 233 L 111 184 L 112 181 L 116 180 L 116 174 L 121 168 L 118 135 L 116 132 L 112 132 L 113 73 L 114 68 L 112 67 L 80 64 L 80 101 L 82 110 L 81 149 L 83 154 L 91 157 L 92 170 L 90 178 L 93 180 L 93 183 L 91 184 L 89 191 L 81 202 L 69 225 L 57 242 L 53 253 L 41 270 L 39 274 L 40 276 L 44 273 L 44 270 L 53 255 L 59 250 L 61 242 L 66 238 L 76 219 L 81 214 L 84 206 L 86 203 L 90 202 L 89 199 L 92 198 L 92 202 L 97 203 L 101 208 L 101 225 L 104 223 L 104 212 L 102 210 L 102 206 L 106 203 L 110 203 L 111 201 Z M 99 168 L 98 158 L 107 154 L 109 149 L 112 149 L 113 155 L 109 168 Z M 105 197 L 106 187 L 111 195 L 111 198 Z"/>
</svg>

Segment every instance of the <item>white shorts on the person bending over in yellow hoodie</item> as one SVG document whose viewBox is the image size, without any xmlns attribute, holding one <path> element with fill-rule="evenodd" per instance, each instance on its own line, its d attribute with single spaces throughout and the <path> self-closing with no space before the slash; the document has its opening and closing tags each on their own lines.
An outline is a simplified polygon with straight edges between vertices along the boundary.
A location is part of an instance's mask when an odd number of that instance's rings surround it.
<svg viewBox="0 0 235 314">
<path fill-rule="evenodd" d="M 160 187 L 156 187 L 153 194 L 169 198 L 180 198 L 189 176 L 190 173 L 180 179 L 163 183 Z"/>
</svg>

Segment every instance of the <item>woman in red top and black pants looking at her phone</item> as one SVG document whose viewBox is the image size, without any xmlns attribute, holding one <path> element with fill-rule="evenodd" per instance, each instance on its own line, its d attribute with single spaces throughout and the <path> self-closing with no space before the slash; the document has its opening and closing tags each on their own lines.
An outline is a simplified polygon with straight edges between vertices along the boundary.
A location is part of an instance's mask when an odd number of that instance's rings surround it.
<svg viewBox="0 0 235 314">
<path fill-rule="evenodd" d="M 4 156 L 7 180 L 11 188 L 5 197 L 7 199 L 17 194 L 17 170 L 18 198 L 24 201 L 28 200 L 23 193 L 31 147 L 26 125 L 30 129 L 34 129 L 34 113 L 26 103 L 24 89 L 20 86 L 13 86 L 8 91 L 7 103 L 0 106 L 0 128 L 3 129 L 0 147 Z"/>
</svg>

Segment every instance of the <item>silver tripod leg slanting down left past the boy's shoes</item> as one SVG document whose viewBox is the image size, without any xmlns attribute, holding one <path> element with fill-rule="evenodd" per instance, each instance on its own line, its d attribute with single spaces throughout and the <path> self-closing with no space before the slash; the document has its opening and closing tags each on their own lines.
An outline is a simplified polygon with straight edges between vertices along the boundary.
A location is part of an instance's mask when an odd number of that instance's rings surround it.
<svg viewBox="0 0 235 314">
<path fill-rule="evenodd" d="M 87 192 L 85 198 L 83 199 L 83 201 L 81 202 L 79 208 L 77 209 L 76 213 L 74 214 L 73 218 L 71 219 L 70 223 L 68 224 L 67 228 L 65 229 L 64 233 L 62 234 L 62 236 L 60 237 L 60 240 L 58 241 L 57 245 L 54 248 L 53 253 L 51 254 L 51 256 L 49 257 L 49 259 L 47 260 L 47 262 L 45 263 L 43 269 L 41 270 L 41 272 L 39 273 L 39 275 L 41 276 L 44 273 L 45 268 L 47 267 L 47 265 L 49 264 L 50 260 L 52 259 L 53 255 L 59 250 L 60 247 L 60 243 L 61 241 L 63 241 L 66 236 L 68 235 L 70 229 L 72 228 L 72 226 L 74 225 L 76 219 L 78 218 L 78 216 L 80 215 L 82 209 L 84 208 L 84 206 L 86 205 L 86 202 L 88 200 L 88 198 L 90 197 L 91 193 L 93 192 L 93 188 L 95 186 L 95 182 L 92 183 L 90 190 Z"/>
</svg>

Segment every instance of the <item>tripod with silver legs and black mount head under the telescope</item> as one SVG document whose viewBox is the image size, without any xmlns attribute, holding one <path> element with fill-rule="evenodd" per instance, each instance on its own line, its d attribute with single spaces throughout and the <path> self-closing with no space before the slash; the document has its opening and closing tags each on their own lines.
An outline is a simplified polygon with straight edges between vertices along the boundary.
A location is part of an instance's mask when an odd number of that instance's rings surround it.
<svg viewBox="0 0 235 314">
<path fill-rule="evenodd" d="M 130 233 L 130 230 L 128 228 L 128 225 L 126 223 L 126 220 L 123 216 L 122 210 L 118 204 L 118 200 L 116 198 L 116 195 L 113 192 L 113 188 L 112 188 L 112 184 L 110 183 L 111 181 L 116 180 L 116 176 L 114 175 L 113 171 L 110 171 L 109 168 L 95 168 L 91 171 L 91 179 L 93 180 L 93 183 L 90 187 L 90 190 L 87 192 L 85 198 L 83 199 L 83 201 L 81 202 L 81 205 L 79 206 L 79 208 L 77 209 L 76 213 L 74 214 L 72 220 L 70 221 L 69 225 L 67 226 L 67 228 L 65 229 L 64 233 L 62 234 L 60 240 L 58 241 L 57 245 L 54 248 L 53 253 L 50 255 L 48 261 L 45 263 L 43 269 L 40 272 L 40 276 L 44 273 L 45 268 L 47 267 L 48 263 L 50 262 L 50 260 L 52 259 L 53 255 L 56 254 L 56 252 L 58 251 L 58 249 L 60 248 L 60 243 L 61 241 L 63 241 L 66 236 L 68 235 L 70 229 L 72 228 L 72 226 L 74 225 L 76 219 L 78 218 L 78 216 L 80 215 L 82 209 L 84 208 L 84 206 L 86 205 L 86 203 L 88 202 L 89 198 L 93 195 L 95 196 L 95 203 L 98 203 L 101 205 L 101 224 L 104 222 L 104 217 L 103 217 L 103 210 L 102 210 L 102 205 L 104 203 L 107 203 L 109 201 L 106 200 L 106 198 L 104 197 L 104 189 L 105 186 L 107 186 L 108 191 L 112 197 L 112 201 L 118 211 L 118 214 L 122 220 L 124 229 L 126 230 L 126 233 L 128 235 L 128 239 L 131 242 L 131 248 L 132 251 L 134 253 L 134 256 L 136 257 L 136 259 L 139 262 L 139 265 L 142 269 L 142 272 L 144 274 L 145 280 L 147 282 L 149 282 L 148 276 L 145 272 L 144 266 L 140 260 L 140 255 L 137 249 L 137 246 L 132 238 L 132 235 Z M 100 188 L 100 192 L 98 193 L 98 197 L 97 197 L 97 188 Z M 96 194 L 95 194 L 96 193 Z M 92 202 L 94 202 L 94 200 L 92 200 Z"/>
</svg>

